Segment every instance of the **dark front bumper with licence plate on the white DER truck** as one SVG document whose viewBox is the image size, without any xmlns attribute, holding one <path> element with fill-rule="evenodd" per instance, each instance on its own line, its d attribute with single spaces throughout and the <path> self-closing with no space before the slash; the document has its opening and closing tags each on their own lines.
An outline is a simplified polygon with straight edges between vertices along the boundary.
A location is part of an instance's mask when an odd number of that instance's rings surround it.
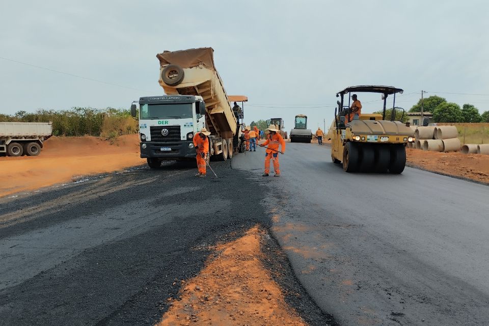
<svg viewBox="0 0 489 326">
<path fill-rule="evenodd" d="M 146 148 L 143 148 L 143 144 Z M 141 158 L 161 158 L 161 159 L 175 159 L 175 158 L 195 158 L 195 148 L 189 148 L 189 144 L 194 144 L 192 141 L 183 142 L 144 142 L 139 144 L 141 150 Z M 170 150 L 162 151 L 162 148 L 170 148 Z"/>
</svg>

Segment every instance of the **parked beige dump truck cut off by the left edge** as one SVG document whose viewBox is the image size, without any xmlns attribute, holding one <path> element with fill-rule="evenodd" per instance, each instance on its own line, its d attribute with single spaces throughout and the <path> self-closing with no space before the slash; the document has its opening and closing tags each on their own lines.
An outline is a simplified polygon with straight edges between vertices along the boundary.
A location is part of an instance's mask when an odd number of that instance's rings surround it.
<svg viewBox="0 0 489 326">
<path fill-rule="evenodd" d="M 51 135 L 51 122 L 0 122 L 0 155 L 37 156 Z"/>
</svg>

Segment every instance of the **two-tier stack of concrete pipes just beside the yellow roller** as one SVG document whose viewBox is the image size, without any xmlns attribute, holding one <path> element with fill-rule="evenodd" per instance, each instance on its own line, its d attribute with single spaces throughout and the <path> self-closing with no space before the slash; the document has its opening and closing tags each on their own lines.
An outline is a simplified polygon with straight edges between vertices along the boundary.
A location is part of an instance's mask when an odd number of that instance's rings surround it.
<svg viewBox="0 0 489 326">
<path fill-rule="evenodd" d="M 433 152 L 451 152 L 460 150 L 458 131 L 455 126 L 418 127 L 415 131 L 418 149 Z"/>
</svg>

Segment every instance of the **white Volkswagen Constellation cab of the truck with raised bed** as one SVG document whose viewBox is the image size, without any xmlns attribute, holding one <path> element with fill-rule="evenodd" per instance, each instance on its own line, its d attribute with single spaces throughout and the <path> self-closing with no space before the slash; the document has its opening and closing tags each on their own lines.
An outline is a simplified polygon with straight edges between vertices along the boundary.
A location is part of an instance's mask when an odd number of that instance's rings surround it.
<svg viewBox="0 0 489 326">
<path fill-rule="evenodd" d="M 137 106 L 131 105 L 136 116 Z M 165 159 L 193 159 L 194 135 L 205 127 L 205 103 L 201 96 L 161 95 L 139 99 L 141 157 L 159 166 Z"/>
</svg>

